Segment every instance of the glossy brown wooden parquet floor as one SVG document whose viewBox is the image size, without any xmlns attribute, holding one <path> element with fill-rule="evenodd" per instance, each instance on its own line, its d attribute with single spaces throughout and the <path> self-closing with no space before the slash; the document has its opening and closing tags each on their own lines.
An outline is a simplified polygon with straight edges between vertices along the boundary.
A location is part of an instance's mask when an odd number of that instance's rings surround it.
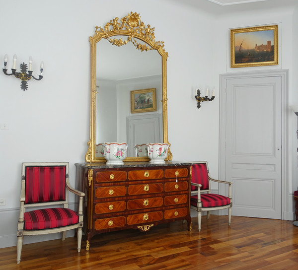
<svg viewBox="0 0 298 270">
<path fill-rule="evenodd" d="M 76 238 L 0 249 L 1 270 L 298 270 L 298 227 L 292 221 L 211 215 L 187 223 L 160 224 L 149 232 L 96 235 L 90 251 L 76 251 Z M 26 237 L 26 236 L 25 236 Z M 29 236 L 27 236 L 29 237 Z M 32 237 L 32 236 L 31 236 Z"/>
</svg>

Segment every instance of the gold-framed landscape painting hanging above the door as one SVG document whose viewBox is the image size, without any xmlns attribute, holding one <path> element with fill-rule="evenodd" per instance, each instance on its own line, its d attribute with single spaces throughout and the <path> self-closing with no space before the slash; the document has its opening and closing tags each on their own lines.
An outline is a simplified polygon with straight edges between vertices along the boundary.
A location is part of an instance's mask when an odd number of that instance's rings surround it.
<svg viewBox="0 0 298 270">
<path fill-rule="evenodd" d="M 278 65 L 278 25 L 231 29 L 231 68 Z"/>
</svg>

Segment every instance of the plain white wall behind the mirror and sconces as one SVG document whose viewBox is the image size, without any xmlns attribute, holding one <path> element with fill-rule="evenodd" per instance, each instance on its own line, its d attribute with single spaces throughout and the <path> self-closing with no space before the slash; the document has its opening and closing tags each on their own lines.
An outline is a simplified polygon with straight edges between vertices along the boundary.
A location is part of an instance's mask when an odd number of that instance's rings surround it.
<svg viewBox="0 0 298 270">
<path fill-rule="evenodd" d="M 208 160 L 213 177 L 219 159 L 219 74 L 228 71 L 227 29 L 281 23 L 281 65 L 290 69 L 291 77 L 297 73 L 291 37 L 297 28 L 289 9 L 218 15 L 170 0 L 1 0 L 0 59 L 7 54 L 10 69 L 17 54 L 19 69 L 32 55 L 33 74 L 43 60 L 44 78 L 29 81 L 24 92 L 19 79 L 0 75 L 0 123 L 9 125 L 9 130 L 0 130 L 0 198 L 6 199 L 0 206 L 0 247 L 16 244 L 22 162 L 68 161 L 74 186 L 74 163 L 84 162 L 89 139 L 88 39 L 95 25 L 130 11 L 155 27 L 155 39 L 164 41 L 169 54 L 168 139 L 173 159 Z M 291 78 L 291 85 L 297 86 L 296 79 Z M 193 97 L 196 87 L 216 88 L 216 99 L 200 110 Z M 294 90 L 290 92 L 293 97 Z M 25 238 L 24 243 L 52 237 Z"/>
</svg>

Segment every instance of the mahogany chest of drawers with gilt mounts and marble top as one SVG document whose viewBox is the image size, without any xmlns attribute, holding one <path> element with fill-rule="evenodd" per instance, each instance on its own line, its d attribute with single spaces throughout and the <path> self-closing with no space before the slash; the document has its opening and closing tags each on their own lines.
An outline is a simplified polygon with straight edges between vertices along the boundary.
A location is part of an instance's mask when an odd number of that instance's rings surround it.
<svg viewBox="0 0 298 270">
<path fill-rule="evenodd" d="M 166 162 L 76 163 L 76 188 L 85 192 L 86 250 L 98 233 L 147 231 L 159 223 L 190 217 L 190 164 Z"/>
</svg>

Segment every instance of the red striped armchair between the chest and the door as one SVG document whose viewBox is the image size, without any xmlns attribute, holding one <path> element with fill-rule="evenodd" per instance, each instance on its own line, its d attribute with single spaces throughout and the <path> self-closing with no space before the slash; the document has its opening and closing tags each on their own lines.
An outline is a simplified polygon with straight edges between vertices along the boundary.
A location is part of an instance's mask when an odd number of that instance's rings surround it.
<svg viewBox="0 0 298 270">
<path fill-rule="evenodd" d="M 228 185 L 228 197 L 212 194 L 211 181 Z M 209 176 L 207 161 L 195 163 L 191 166 L 191 192 L 190 207 L 198 211 L 198 230 L 201 231 L 202 211 L 207 211 L 207 219 L 210 217 L 210 211 L 228 208 L 228 225 L 231 224 L 231 184 L 221 180 L 212 179 Z"/>
</svg>

